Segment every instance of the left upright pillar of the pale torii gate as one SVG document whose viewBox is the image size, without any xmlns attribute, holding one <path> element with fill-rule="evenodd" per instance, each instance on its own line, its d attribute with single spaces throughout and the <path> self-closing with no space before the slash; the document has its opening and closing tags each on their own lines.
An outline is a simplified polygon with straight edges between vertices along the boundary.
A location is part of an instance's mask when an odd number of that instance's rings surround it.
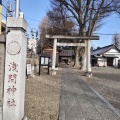
<svg viewBox="0 0 120 120">
<path fill-rule="evenodd" d="M 54 39 L 53 44 L 53 55 L 52 55 L 52 75 L 56 75 L 55 64 L 56 64 L 56 49 L 57 49 L 57 39 Z"/>
</svg>

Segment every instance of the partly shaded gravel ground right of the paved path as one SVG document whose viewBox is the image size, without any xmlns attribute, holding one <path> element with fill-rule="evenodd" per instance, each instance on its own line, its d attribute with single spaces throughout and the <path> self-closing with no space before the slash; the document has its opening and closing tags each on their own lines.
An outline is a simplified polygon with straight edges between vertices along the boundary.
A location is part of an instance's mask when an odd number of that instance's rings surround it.
<svg viewBox="0 0 120 120">
<path fill-rule="evenodd" d="M 93 77 L 90 78 L 84 76 L 84 72 L 76 71 L 120 112 L 120 69 L 93 67 Z"/>
</svg>

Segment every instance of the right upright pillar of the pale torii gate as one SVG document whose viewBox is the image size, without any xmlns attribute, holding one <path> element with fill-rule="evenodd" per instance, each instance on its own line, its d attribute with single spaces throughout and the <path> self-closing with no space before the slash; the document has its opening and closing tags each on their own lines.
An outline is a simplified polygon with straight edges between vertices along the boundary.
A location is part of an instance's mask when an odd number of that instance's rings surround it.
<svg viewBox="0 0 120 120">
<path fill-rule="evenodd" d="M 92 73 L 91 73 L 91 62 L 90 62 L 90 40 L 87 40 L 87 65 L 86 65 L 86 75 L 88 77 L 91 77 L 92 76 Z"/>
</svg>

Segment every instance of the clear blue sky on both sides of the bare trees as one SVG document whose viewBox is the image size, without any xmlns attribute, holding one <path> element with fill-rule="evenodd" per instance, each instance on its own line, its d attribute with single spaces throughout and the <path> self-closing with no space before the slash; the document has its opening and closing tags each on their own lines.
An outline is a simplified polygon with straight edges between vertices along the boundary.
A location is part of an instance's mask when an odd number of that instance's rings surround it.
<svg viewBox="0 0 120 120">
<path fill-rule="evenodd" d="M 6 6 L 6 2 L 8 0 L 2 0 L 3 5 Z M 14 0 L 9 0 L 13 2 Z M 28 23 L 28 30 L 27 33 L 30 36 L 30 30 L 35 28 L 38 30 L 38 26 L 40 21 L 46 15 L 47 10 L 50 9 L 50 0 L 20 0 L 20 10 L 24 13 L 25 19 Z M 6 15 L 6 9 L 3 7 L 2 11 L 3 15 Z M 3 19 L 5 17 L 3 16 Z M 120 34 L 120 16 L 112 15 L 109 18 L 103 21 L 104 25 L 97 30 L 95 34 L 99 35 L 99 40 L 91 41 L 91 45 L 96 47 L 103 47 L 112 44 L 112 37 L 113 35 L 101 35 L 101 34 Z"/>
</svg>

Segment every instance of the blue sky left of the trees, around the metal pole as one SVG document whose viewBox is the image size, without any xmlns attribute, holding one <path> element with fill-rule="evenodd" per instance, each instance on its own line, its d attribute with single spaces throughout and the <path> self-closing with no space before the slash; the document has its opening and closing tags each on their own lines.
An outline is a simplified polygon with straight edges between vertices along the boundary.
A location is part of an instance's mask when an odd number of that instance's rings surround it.
<svg viewBox="0 0 120 120">
<path fill-rule="evenodd" d="M 6 6 L 6 1 L 8 0 L 2 1 L 3 5 Z M 13 2 L 14 0 L 9 1 Z M 49 0 L 20 0 L 20 10 L 24 13 L 25 19 L 28 22 L 28 34 L 30 34 L 30 28 L 36 28 L 38 30 L 40 21 L 46 15 L 49 7 Z M 6 15 L 5 7 L 3 7 L 2 13 Z M 3 17 L 3 19 L 5 19 L 5 17 Z"/>
</svg>

